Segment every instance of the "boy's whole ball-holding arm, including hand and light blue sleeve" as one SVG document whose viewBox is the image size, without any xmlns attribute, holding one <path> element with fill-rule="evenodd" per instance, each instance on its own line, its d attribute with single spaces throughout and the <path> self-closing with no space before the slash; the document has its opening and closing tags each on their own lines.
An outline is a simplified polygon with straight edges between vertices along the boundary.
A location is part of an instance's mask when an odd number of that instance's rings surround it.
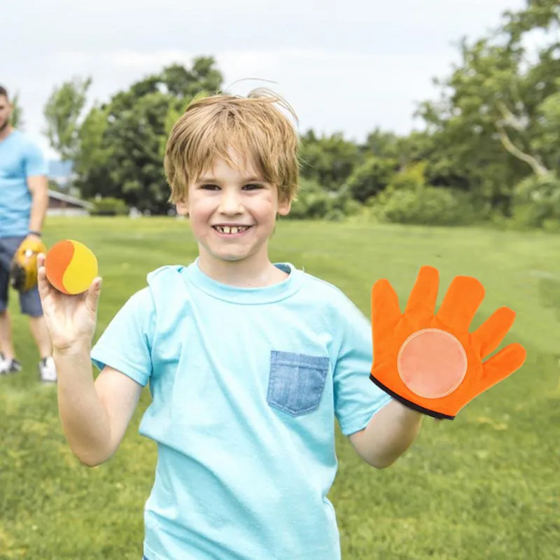
<svg viewBox="0 0 560 560">
<path fill-rule="evenodd" d="M 143 328 L 144 318 L 151 317 L 146 313 L 150 311 L 150 300 L 146 292 L 139 292 L 113 318 L 100 341 L 105 341 L 102 354 L 115 360 L 113 365 L 119 369 L 99 365 L 102 372 L 94 381 L 91 342 L 101 278 L 94 279 L 83 295 L 66 295 L 48 282 L 45 255 L 38 255 L 37 264 L 39 295 L 58 373 L 59 415 L 64 434 L 82 463 L 99 465 L 111 457 L 123 439 L 144 386 L 120 370 L 133 371 L 139 379 L 143 379 L 142 375 L 149 377 L 146 364 L 150 363 L 150 356 Z M 116 342 L 109 344 L 111 340 Z"/>
</svg>

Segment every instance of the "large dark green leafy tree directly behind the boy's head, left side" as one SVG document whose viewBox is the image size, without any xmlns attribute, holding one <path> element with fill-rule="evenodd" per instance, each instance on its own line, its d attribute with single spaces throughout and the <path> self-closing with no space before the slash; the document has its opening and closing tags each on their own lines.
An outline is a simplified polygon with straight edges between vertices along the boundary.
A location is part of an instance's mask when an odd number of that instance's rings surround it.
<svg viewBox="0 0 560 560">
<path fill-rule="evenodd" d="M 163 147 L 170 127 L 196 94 L 216 92 L 221 73 L 200 57 L 146 76 L 106 104 L 95 104 L 77 134 L 75 170 L 83 197 L 120 198 L 151 214 L 169 210 Z"/>
</svg>

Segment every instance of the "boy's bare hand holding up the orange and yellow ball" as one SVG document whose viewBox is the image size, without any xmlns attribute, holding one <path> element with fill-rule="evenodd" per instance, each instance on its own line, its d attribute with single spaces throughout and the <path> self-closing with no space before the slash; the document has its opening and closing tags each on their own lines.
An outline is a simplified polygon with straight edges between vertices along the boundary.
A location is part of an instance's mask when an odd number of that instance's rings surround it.
<svg viewBox="0 0 560 560">
<path fill-rule="evenodd" d="M 45 274 L 45 255 L 38 255 L 38 290 L 52 347 L 59 353 L 71 353 L 90 347 L 97 323 L 97 304 L 102 279 L 95 278 L 87 292 L 64 295 L 53 288 Z"/>
</svg>

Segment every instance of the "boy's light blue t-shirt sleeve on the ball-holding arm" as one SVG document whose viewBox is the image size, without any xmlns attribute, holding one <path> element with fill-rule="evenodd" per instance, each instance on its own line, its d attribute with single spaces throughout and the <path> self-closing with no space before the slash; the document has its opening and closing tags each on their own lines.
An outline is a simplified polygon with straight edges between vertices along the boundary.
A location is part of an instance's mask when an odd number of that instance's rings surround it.
<svg viewBox="0 0 560 560">
<path fill-rule="evenodd" d="M 155 307 L 149 288 L 135 293 L 104 330 L 91 351 L 94 365 L 106 365 L 146 386 L 152 374 Z"/>
</svg>

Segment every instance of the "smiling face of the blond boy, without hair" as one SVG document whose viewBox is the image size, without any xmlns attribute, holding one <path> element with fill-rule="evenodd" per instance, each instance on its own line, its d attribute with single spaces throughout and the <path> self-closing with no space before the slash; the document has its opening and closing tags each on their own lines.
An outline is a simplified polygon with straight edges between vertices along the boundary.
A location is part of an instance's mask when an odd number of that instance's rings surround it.
<svg viewBox="0 0 560 560">
<path fill-rule="evenodd" d="M 240 161 L 232 150 L 230 157 Z M 189 185 L 188 199 L 177 203 L 179 214 L 190 216 L 207 266 L 240 261 L 265 266 L 276 214 L 290 211 L 290 202 L 279 201 L 276 186 L 263 181 L 253 165 L 238 167 L 217 158 L 212 169 Z"/>
</svg>

